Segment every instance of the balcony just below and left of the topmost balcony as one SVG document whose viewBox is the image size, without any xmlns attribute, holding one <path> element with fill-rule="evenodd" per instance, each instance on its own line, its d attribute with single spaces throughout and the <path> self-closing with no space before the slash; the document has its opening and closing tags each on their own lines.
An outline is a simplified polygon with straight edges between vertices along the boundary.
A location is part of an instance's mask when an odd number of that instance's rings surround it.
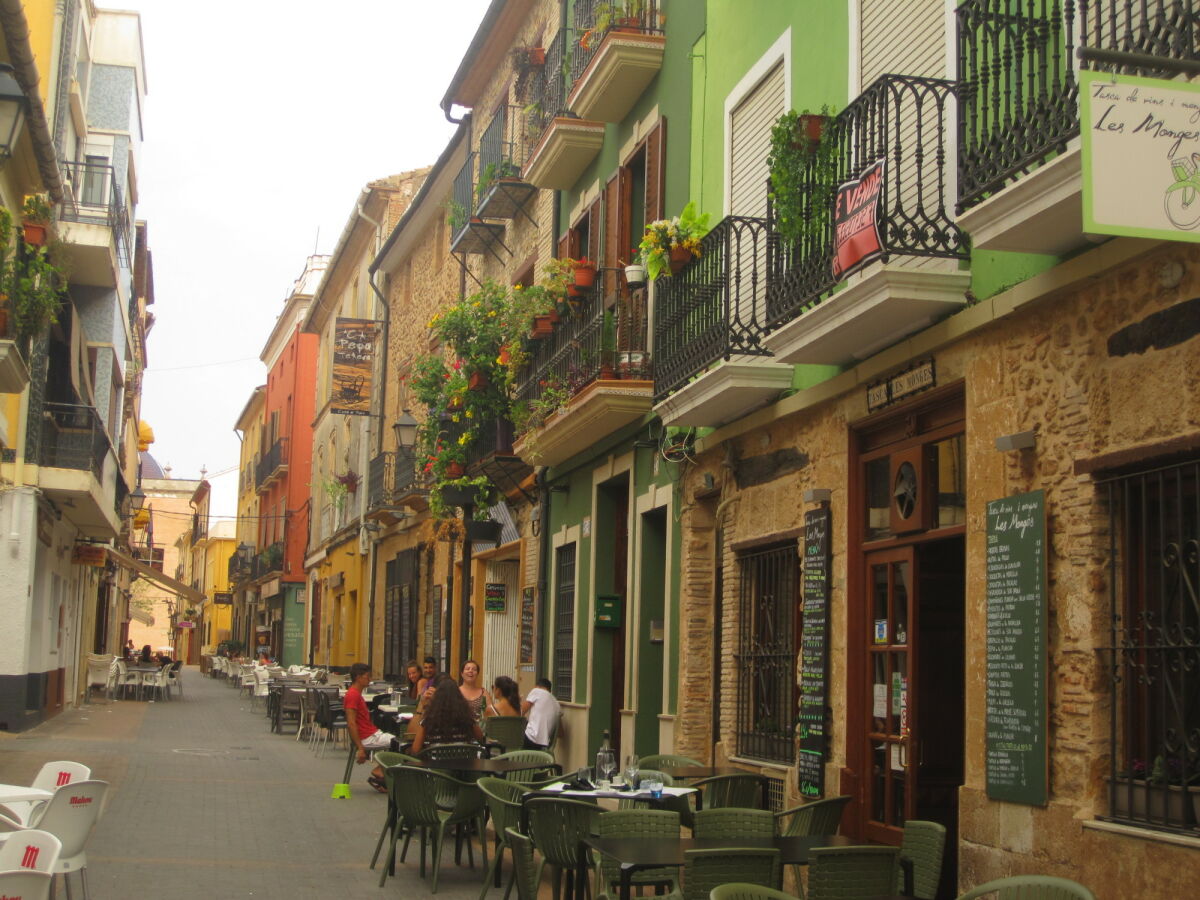
<svg viewBox="0 0 1200 900">
<path fill-rule="evenodd" d="M 605 124 L 582 119 L 566 104 L 572 77 L 574 41 L 559 31 L 546 48 L 546 65 L 522 110 L 529 156 L 522 175 L 536 187 L 565 191 L 592 164 L 604 144 Z"/>
</svg>

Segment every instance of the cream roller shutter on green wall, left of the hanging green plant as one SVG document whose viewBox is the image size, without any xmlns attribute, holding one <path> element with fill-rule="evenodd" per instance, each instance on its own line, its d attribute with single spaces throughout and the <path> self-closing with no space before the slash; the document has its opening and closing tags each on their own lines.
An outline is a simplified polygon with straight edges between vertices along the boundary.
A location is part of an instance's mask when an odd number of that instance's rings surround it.
<svg viewBox="0 0 1200 900">
<path fill-rule="evenodd" d="M 730 215 L 767 215 L 770 130 L 784 109 L 780 62 L 730 114 Z"/>
</svg>

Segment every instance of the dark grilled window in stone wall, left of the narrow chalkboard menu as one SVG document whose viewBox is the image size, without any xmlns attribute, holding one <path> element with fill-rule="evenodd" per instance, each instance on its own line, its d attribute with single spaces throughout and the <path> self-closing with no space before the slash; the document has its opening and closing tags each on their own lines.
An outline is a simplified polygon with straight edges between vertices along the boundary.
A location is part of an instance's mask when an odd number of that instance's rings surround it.
<svg viewBox="0 0 1200 900">
<path fill-rule="evenodd" d="M 791 762 L 800 646 L 796 542 L 738 554 L 738 755 Z"/>
</svg>

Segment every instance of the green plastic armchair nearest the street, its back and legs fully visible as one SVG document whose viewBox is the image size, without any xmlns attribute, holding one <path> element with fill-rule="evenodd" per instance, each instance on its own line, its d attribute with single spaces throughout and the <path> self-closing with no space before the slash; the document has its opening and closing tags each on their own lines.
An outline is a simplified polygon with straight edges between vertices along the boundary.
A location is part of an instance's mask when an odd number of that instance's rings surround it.
<svg viewBox="0 0 1200 900">
<path fill-rule="evenodd" d="M 452 792 L 455 804 L 452 809 L 443 809 L 438 805 L 438 797 Z M 421 832 L 421 877 L 425 877 L 425 842 L 432 832 L 433 836 L 433 890 L 438 893 L 438 872 L 442 868 L 442 847 L 445 844 L 445 833 L 457 824 L 475 823 L 479 827 L 479 845 L 484 854 L 484 865 L 487 865 L 487 840 L 484 836 L 484 793 L 478 785 L 463 784 L 449 775 L 433 769 L 418 769 L 410 766 L 397 766 L 394 769 L 392 802 L 400 820 L 408 829 L 404 836 L 404 847 L 400 854 L 401 862 L 408 854 L 408 845 L 413 839 L 413 832 Z M 395 863 L 396 842 L 400 840 L 400 829 L 392 835 L 391 850 L 388 854 L 388 865 L 384 866 L 383 877 L 379 886 L 388 877 L 388 871 Z M 467 844 L 468 860 L 474 866 L 475 860 L 470 851 L 470 842 Z"/>
</svg>

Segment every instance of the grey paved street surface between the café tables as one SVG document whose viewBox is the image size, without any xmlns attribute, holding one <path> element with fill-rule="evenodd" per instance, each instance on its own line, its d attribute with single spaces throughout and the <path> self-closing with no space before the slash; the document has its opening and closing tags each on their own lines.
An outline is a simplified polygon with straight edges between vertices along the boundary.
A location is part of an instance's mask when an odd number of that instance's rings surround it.
<svg viewBox="0 0 1200 900">
<path fill-rule="evenodd" d="M 386 798 L 366 784 L 365 766 L 349 799 L 330 799 L 344 749 L 318 758 L 294 734 L 270 733 L 262 712 L 224 682 L 196 668 L 184 682 L 182 701 L 97 701 L 0 734 L 0 782 L 29 784 L 47 760 L 74 760 L 112 785 L 88 845 L 92 900 L 430 895 L 415 842 L 383 888 L 378 869 L 367 869 Z M 479 896 L 478 851 L 469 869 L 466 856 L 455 865 L 448 844 L 438 898 Z"/>
</svg>

